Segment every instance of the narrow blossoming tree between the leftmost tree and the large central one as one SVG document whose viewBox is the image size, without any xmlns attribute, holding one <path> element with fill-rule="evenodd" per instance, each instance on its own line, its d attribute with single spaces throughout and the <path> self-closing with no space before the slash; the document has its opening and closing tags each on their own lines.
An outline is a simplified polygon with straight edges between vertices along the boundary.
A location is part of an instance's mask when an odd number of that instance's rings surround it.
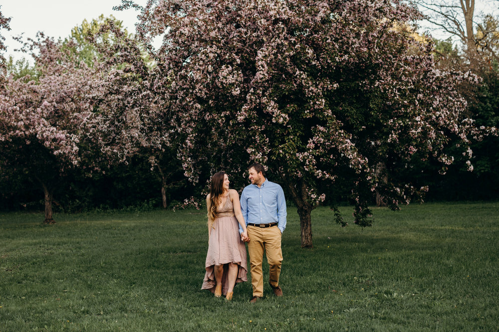
<svg viewBox="0 0 499 332">
<path fill-rule="evenodd" d="M 109 73 L 101 107 L 115 110 L 109 113 L 115 117 L 107 120 L 107 127 L 111 133 L 120 133 L 117 138 L 126 151 L 149 161 L 161 183 L 162 206 L 167 208 L 168 192 L 185 186 L 186 178 L 173 146 L 170 121 L 163 118 L 164 110 L 156 102 L 155 76 L 150 71 L 154 64 L 139 41 L 115 21 L 107 21 L 90 35 L 102 57 L 99 70 Z M 117 128 L 120 124 L 126 127 Z"/>
</svg>

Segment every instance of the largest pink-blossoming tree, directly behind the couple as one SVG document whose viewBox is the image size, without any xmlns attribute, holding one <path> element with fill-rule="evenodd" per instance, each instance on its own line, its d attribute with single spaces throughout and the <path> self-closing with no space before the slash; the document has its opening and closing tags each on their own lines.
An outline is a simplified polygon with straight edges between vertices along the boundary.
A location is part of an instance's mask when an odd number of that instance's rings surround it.
<svg viewBox="0 0 499 332">
<path fill-rule="evenodd" d="M 386 174 L 452 163 L 452 136 L 471 157 L 454 87 L 476 78 L 437 70 L 432 44 L 397 28 L 421 17 L 404 1 L 150 0 L 140 17 L 146 42 L 163 37 L 150 48 L 154 90 L 186 174 L 266 165 L 297 207 L 302 247 L 324 200 L 317 183 L 349 181 L 355 223 L 369 226 L 374 190 L 392 208 L 426 190 Z"/>
</svg>

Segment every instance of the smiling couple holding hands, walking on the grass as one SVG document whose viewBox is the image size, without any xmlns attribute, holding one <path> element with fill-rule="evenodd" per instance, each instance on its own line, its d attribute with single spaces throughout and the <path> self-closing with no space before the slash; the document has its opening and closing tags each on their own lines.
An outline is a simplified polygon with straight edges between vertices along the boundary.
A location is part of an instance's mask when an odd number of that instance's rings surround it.
<svg viewBox="0 0 499 332">
<path fill-rule="evenodd" d="M 269 285 L 282 296 L 279 275 L 282 262 L 281 234 L 286 228 L 286 201 L 280 185 L 265 178 L 260 164 L 248 168 L 251 184 L 241 194 L 229 189 L 224 172 L 212 176 L 208 209 L 208 254 L 201 289 L 232 300 L 236 283 L 248 281 L 246 246 L 250 254 L 251 285 L 255 303 L 263 296 L 262 261 L 265 252 L 269 265 Z"/>
</svg>

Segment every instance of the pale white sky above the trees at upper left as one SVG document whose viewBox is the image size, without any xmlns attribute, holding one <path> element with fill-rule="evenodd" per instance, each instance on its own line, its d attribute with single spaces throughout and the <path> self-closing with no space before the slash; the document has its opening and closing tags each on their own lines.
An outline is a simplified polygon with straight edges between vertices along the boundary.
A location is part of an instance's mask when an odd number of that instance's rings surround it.
<svg viewBox="0 0 499 332">
<path fill-rule="evenodd" d="M 145 5 L 146 0 L 135 0 Z M 1 30 L 7 47 L 5 58 L 12 55 L 14 59 L 23 57 L 19 52 L 14 53 L 20 44 L 13 40 L 13 36 L 21 33 L 23 38 L 34 38 L 37 31 L 44 32 L 55 39 L 65 38 L 71 34 L 71 29 L 86 19 L 91 21 L 104 16 L 113 15 L 123 21 L 128 32 L 135 32 L 135 23 L 138 21 L 138 12 L 132 9 L 124 11 L 113 10 L 113 6 L 120 5 L 121 0 L 0 0 L 0 10 L 5 17 L 11 17 L 10 31 Z"/>
</svg>

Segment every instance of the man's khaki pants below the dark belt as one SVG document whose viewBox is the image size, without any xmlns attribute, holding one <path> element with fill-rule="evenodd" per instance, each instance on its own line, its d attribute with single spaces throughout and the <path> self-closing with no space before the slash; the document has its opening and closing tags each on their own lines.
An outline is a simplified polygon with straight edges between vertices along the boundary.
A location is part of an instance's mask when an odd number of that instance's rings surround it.
<svg viewBox="0 0 499 332">
<path fill-rule="evenodd" d="M 248 253 L 250 254 L 251 285 L 253 296 L 263 296 L 263 273 L 261 263 L 266 252 L 269 265 L 269 283 L 272 287 L 279 286 L 279 275 L 282 262 L 281 232 L 277 226 L 260 228 L 248 226 Z"/>
</svg>

